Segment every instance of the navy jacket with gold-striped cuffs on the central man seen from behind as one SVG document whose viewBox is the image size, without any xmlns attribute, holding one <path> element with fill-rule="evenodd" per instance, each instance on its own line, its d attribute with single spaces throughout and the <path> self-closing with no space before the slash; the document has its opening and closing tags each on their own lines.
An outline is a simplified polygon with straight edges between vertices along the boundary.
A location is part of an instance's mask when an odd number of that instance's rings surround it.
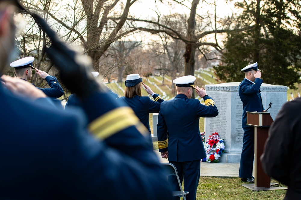
<svg viewBox="0 0 301 200">
<path fill-rule="evenodd" d="M 159 152 L 168 151 L 168 160 L 185 162 L 206 157 L 199 129 L 200 117 L 219 114 L 213 99 L 204 97 L 205 105 L 197 99 L 178 94 L 161 103 L 157 134 Z M 168 134 L 167 134 L 168 131 Z"/>
</svg>

